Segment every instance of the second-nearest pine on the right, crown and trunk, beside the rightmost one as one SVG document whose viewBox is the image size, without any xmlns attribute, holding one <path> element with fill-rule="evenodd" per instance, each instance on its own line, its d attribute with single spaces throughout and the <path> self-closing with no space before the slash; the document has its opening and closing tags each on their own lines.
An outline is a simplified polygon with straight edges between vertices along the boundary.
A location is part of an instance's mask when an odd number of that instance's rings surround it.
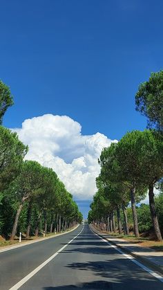
<svg viewBox="0 0 163 290">
<path fill-rule="evenodd" d="M 136 237 L 139 237 L 137 222 L 136 199 L 142 197 L 145 185 L 140 181 L 139 132 L 127 133 L 118 143 L 112 143 L 110 147 L 104 148 L 99 163 L 102 166 L 102 174 L 106 174 L 113 183 L 122 182 L 131 192 L 131 207 L 133 211 L 133 224 Z"/>
</svg>

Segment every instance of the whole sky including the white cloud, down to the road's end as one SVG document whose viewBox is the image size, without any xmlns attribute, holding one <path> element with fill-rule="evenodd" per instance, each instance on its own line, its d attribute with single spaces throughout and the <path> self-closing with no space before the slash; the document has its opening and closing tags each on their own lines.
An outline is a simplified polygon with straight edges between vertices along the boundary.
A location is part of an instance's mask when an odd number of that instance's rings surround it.
<svg viewBox="0 0 163 290">
<path fill-rule="evenodd" d="M 86 217 L 103 147 L 143 130 L 135 93 L 162 69 L 161 0 L 0 0 L 3 125 L 52 167 Z"/>
</svg>

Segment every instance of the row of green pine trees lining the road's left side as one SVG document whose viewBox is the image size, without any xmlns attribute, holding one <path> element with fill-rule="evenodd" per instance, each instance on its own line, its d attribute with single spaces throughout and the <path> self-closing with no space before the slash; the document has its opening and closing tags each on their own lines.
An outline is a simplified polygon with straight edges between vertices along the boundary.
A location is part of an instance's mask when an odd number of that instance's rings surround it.
<svg viewBox="0 0 163 290">
<path fill-rule="evenodd" d="M 10 89 L 0 81 L 0 124 L 13 104 Z M 36 161 L 24 161 L 28 146 L 15 132 L 0 125 L 0 235 L 28 238 L 39 230 L 66 230 L 83 217 L 57 174 Z"/>
</svg>

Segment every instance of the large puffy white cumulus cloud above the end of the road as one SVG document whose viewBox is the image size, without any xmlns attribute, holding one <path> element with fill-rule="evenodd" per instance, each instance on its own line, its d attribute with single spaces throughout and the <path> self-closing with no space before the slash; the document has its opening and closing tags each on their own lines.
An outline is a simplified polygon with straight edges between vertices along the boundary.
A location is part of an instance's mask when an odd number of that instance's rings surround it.
<svg viewBox="0 0 163 290">
<path fill-rule="evenodd" d="M 68 116 L 46 114 L 25 120 L 16 131 L 29 146 L 26 159 L 51 167 L 75 199 L 91 199 L 96 191 L 97 162 L 112 142 L 104 134 L 81 135 L 81 125 Z"/>
</svg>

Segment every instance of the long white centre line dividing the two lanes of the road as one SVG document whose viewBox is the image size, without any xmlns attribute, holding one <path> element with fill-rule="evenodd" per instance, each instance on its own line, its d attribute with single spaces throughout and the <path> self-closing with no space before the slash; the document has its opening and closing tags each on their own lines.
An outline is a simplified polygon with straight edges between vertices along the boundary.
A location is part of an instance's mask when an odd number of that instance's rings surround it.
<svg viewBox="0 0 163 290">
<path fill-rule="evenodd" d="M 68 246 L 68 244 L 70 244 L 71 242 L 73 242 L 73 240 L 76 239 L 76 237 L 78 237 L 78 235 L 81 234 L 81 232 L 83 231 L 83 229 L 84 229 L 84 226 L 81 229 L 81 231 L 79 232 L 79 234 L 77 234 L 75 237 L 73 237 L 73 239 L 71 239 L 66 245 L 62 246 L 62 248 L 60 248 L 59 251 L 57 251 L 55 254 L 53 254 L 51 257 L 49 257 L 44 263 L 42 263 L 41 265 L 39 265 L 35 270 L 33 270 L 32 272 L 30 272 L 28 275 L 26 275 L 26 277 L 24 277 L 23 279 L 21 279 L 17 284 L 15 284 L 14 286 L 12 286 L 9 290 L 17 290 L 23 284 L 25 284 L 28 280 L 30 280 L 30 278 L 32 278 L 32 276 L 34 276 L 44 266 L 46 266 L 46 264 L 48 264 L 52 259 L 54 259 L 54 257 L 56 257 L 59 253 L 61 253 L 61 251 L 63 251 L 64 248 L 66 248 L 66 246 Z"/>
</svg>

